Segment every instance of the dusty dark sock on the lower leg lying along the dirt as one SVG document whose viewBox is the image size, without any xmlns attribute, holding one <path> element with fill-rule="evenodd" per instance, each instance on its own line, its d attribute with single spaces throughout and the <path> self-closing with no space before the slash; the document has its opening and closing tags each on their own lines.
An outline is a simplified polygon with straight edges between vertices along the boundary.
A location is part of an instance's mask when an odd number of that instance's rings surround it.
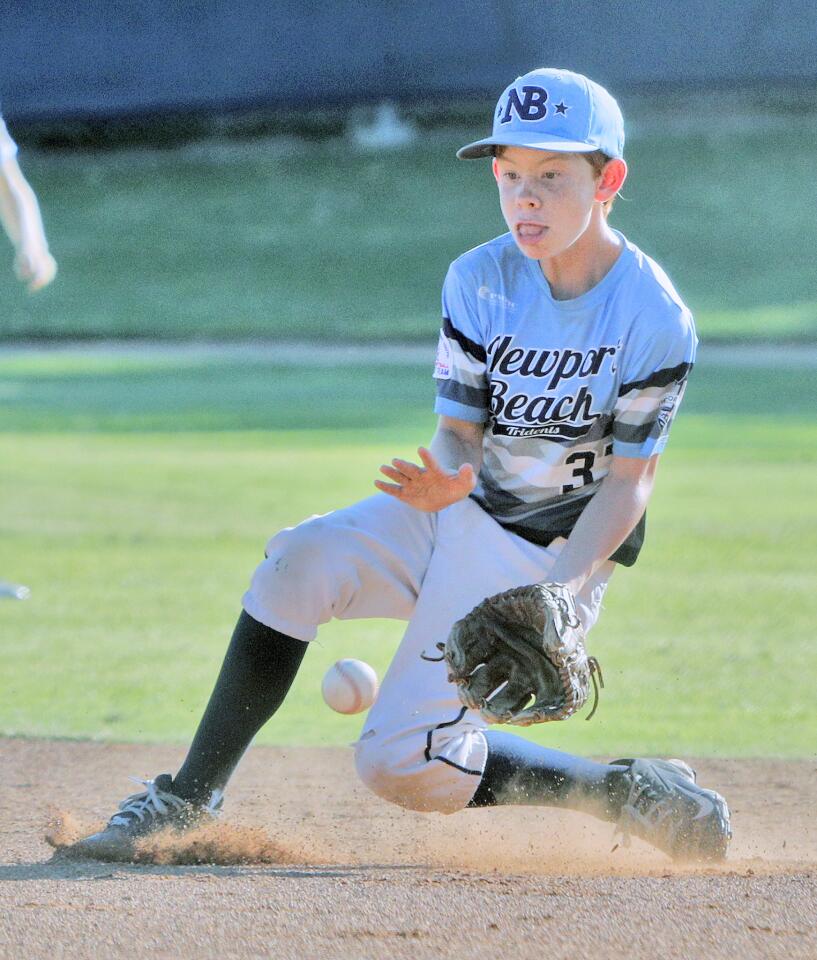
<svg viewBox="0 0 817 960">
<path fill-rule="evenodd" d="M 574 757 L 499 730 L 487 731 L 485 738 L 488 760 L 470 807 L 557 806 L 618 819 L 626 767 Z"/>
</svg>

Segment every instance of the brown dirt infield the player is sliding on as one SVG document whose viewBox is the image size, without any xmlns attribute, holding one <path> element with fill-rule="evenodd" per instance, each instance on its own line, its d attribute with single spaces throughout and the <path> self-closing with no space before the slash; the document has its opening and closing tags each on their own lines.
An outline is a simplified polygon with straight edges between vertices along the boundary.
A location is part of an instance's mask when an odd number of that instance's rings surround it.
<svg viewBox="0 0 817 960">
<path fill-rule="evenodd" d="M 63 836 L 93 826 L 130 792 L 127 774 L 181 755 L 0 740 L 0 957 L 817 957 L 817 763 L 697 764 L 734 815 L 730 859 L 706 870 L 638 842 L 613 851 L 612 828 L 578 814 L 408 813 L 367 793 L 351 751 L 264 747 L 206 849 L 272 862 L 53 855 L 49 821 L 62 817 Z"/>
</svg>

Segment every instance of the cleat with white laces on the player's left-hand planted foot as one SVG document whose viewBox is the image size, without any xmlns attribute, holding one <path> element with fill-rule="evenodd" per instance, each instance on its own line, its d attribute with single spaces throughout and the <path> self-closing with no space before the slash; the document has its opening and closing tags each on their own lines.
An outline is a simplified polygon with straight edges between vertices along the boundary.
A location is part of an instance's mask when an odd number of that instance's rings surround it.
<svg viewBox="0 0 817 960">
<path fill-rule="evenodd" d="M 78 840 L 71 855 L 100 860 L 127 860 L 135 852 L 135 842 L 147 834 L 170 827 L 187 830 L 213 819 L 222 803 L 221 791 L 215 791 L 206 806 L 190 803 L 172 792 L 173 778 L 162 773 L 155 780 L 131 777 L 146 789 L 134 793 L 119 804 L 119 809 L 98 833 Z"/>
</svg>

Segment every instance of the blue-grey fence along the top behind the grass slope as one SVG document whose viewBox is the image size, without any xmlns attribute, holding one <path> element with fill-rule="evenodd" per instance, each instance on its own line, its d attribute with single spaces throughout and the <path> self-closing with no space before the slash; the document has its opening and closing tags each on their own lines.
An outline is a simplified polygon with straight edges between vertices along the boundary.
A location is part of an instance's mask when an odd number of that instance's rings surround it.
<svg viewBox="0 0 817 960">
<path fill-rule="evenodd" d="M 817 89 L 817 3 L 4 0 L 0 55 L 23 120 L 494 97 L 544 64 L 617 91 Z"/>
</svg>

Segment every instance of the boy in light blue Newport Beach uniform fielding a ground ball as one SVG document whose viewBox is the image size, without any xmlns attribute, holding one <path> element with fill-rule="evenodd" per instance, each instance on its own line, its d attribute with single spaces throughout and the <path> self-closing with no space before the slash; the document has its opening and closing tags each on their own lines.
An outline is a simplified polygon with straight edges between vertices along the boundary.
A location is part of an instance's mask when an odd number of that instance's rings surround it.
<svg viewBox="0 0 817 960">
<path fill-rule="evenodd" d="M 462 702 L 456 658 L 438 653 L 455 621 L 523 585 L 544 584 L 558 623 L 586 633 L 641 549 L 696 337 L 666 274 L 608 223 L 623 147 L 615 100 L 586 77 L 534 70 L 503 92 L 492 135 L 458 156 L 489 159 L 508 232 L 446 277 L 429 447 L 384 465 L 375 496 L 272 538 L 181 769 L 144 781 L 79 852 L 119 855 L 214 811 L 318 625 L 394 617 L 408 627 L 355 745 L 381 797 L 577 807 L 673 857 L 725 855 L 726 803 L 685 763 L 596 763 L 497 729 L 487 720 L 524 713 L 534 680 L 508 655 L 491 661 L 504 692 L 475 692 L 478 666 L 459 676 Z"/>
</svg>

